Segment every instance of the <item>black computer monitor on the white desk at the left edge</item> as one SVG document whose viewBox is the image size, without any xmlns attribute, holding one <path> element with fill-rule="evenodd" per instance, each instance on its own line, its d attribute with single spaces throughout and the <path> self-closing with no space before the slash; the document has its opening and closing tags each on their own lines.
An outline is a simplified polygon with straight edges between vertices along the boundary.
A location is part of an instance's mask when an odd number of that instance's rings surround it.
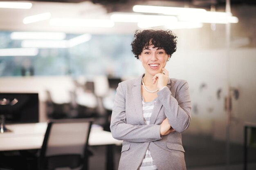
<svg viewBox="0 0 256 170">
<path fill-rule="evenodd" d="M 39 121 L 38 93 L 0 93 L 0 130 L 4 124 Z"/>
</svg>

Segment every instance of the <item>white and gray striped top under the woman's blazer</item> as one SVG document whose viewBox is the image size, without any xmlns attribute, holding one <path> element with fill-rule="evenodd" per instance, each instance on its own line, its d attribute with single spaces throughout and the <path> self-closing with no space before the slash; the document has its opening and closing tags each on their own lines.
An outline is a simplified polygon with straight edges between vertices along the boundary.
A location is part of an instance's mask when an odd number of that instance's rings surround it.
<svg viewBox="0 0 256 170">
<path fill-rule="evenodd" d="M 152 110 L 155 106 L 155 101 L 156 101 L 156 98 L 154 100 L 152 100 L 151 102 L 144 102 L 144 98 L 142 96 L 143 118 L 144 118 L 145 124 L 147 124 L 147 125 L 149 125 Z M 139 167 L 139 170 L 158 170 L 157 166 L 155 165 L 155 163 L 153 161 L 153 158 L 150 154 L 149 149 L 146 151 L 144 159 Z"/>
</svg>

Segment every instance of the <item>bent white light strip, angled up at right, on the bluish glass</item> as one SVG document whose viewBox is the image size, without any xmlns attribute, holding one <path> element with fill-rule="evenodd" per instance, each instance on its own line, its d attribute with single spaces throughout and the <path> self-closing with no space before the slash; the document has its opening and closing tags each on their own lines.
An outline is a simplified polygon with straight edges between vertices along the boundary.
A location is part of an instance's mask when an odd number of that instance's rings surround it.
<svg viewBox="0 0 256 170">
<path fill-rule="evenodd" d="M 22 47 L 37 47 L 37 48 L 70 48 L 83 42 L 87 42 L 92 38 L 90 34 L 79 35 L 70 40 L 23 40 Z"/>
</svg>

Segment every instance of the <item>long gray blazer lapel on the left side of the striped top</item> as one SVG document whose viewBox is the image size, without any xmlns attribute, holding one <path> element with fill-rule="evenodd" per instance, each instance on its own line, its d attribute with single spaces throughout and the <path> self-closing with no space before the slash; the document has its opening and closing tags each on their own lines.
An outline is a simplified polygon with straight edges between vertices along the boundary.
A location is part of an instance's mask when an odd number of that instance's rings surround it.
<svg viewBox="0 0 256 170">
<path fill-rule="evenodd" d="M 142 111 L 142 97 L 141 97 L 141 81 L 142 81 L 143 75 L 141 75 L 134 83 L 132 87 L 132 95 L 133 95 L 133 101 L 134 106 L 136 110 L 136 115 L 139 119 L 139 122 L 141 125 L 145 125 L 144 119 L 143 119 L 143 111 Z"/>
</svg>

